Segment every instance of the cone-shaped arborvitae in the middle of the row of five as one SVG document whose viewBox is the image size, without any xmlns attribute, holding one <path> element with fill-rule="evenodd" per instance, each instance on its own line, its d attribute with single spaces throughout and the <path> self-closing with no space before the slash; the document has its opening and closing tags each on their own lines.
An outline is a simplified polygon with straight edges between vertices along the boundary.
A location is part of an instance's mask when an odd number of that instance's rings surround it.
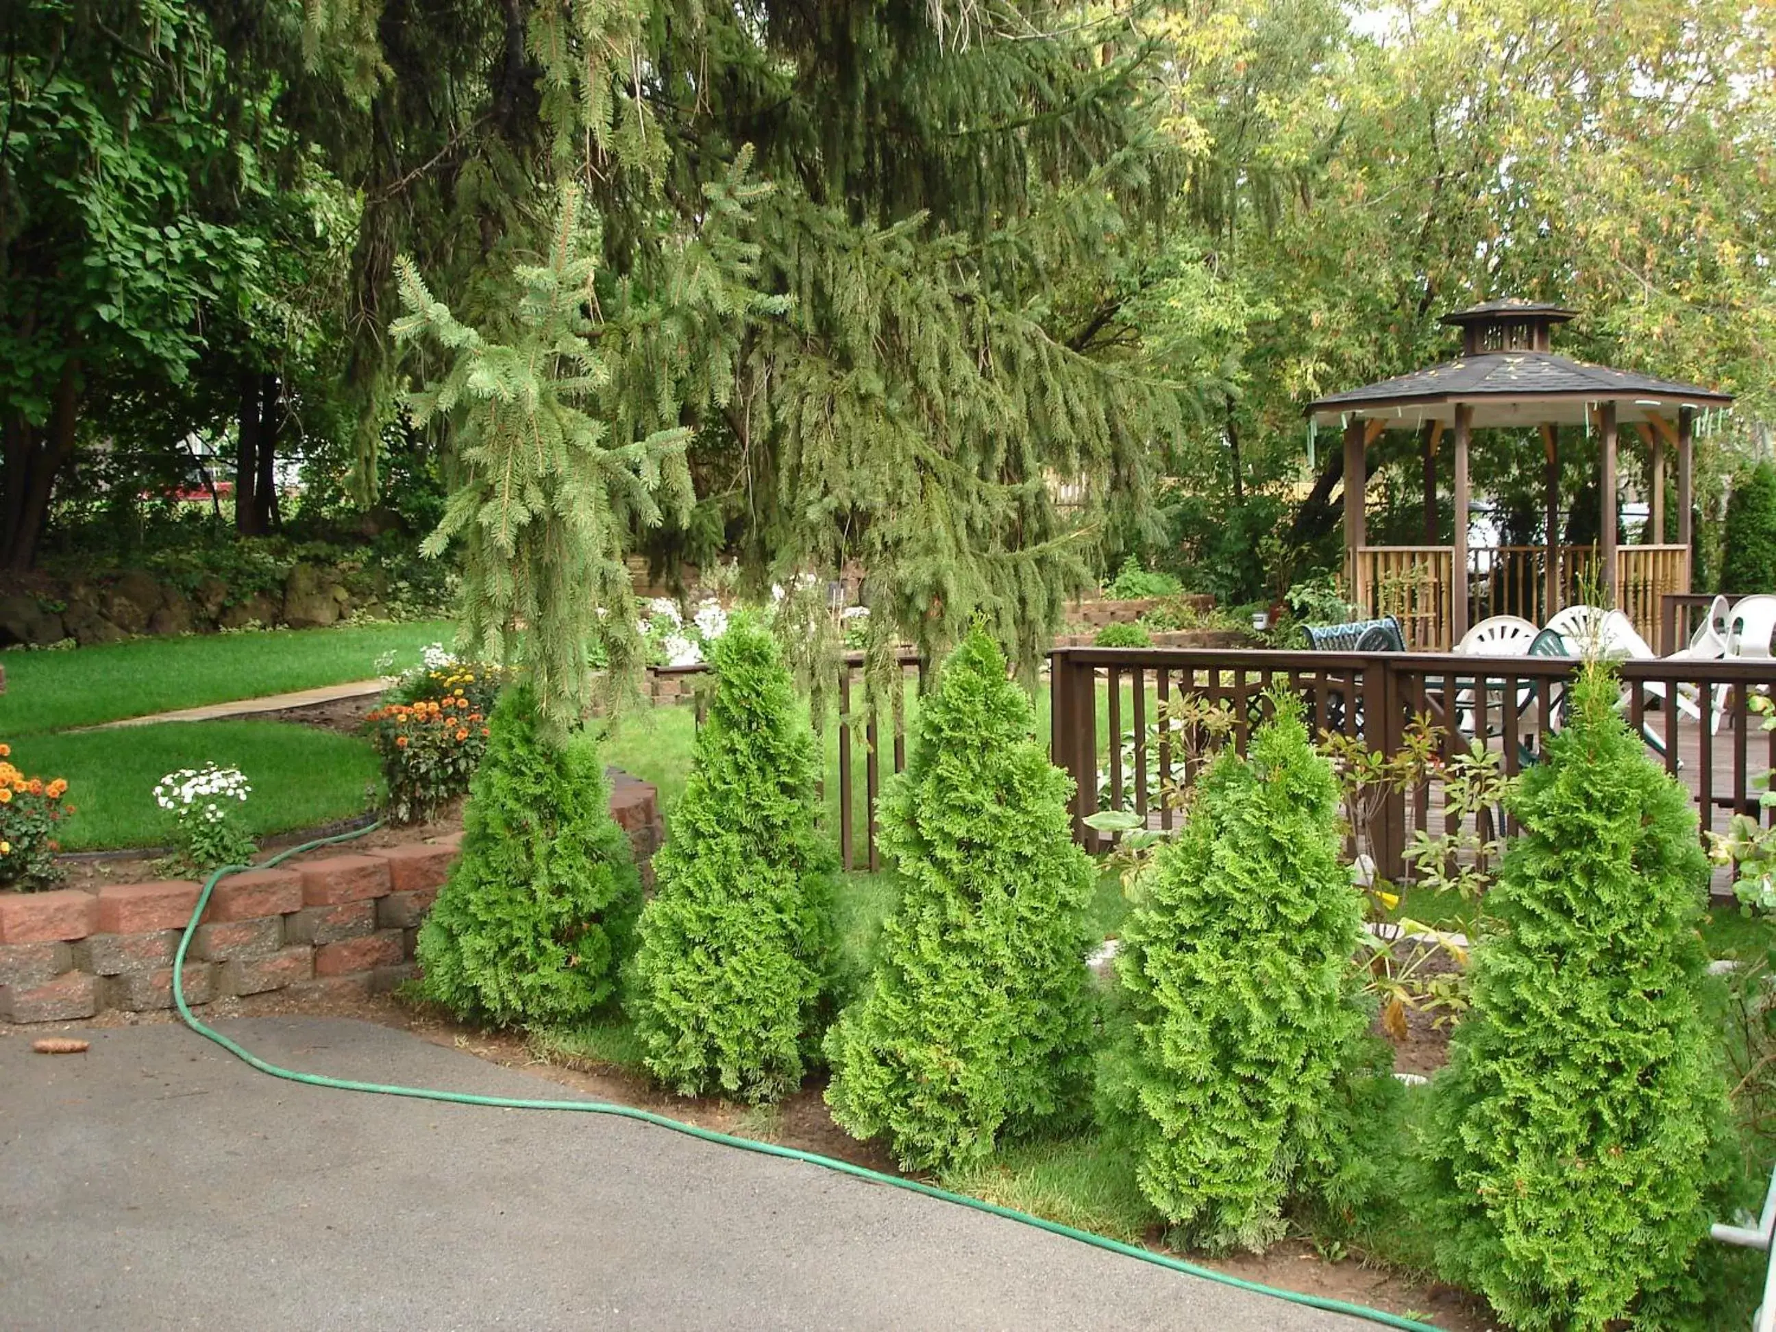
<svg viewBox="0 0 1776 1332">
<path fill-rule="evenodd" d="M 1071 842 L 1073 783 L 1034 723 L 977 629 L 883 792 L 881 844 L 904 890 L 865 996 L 828 1035 L 826 1101 L 909 1169 L 977 1160 L 1085 1099 L 1094 870 Z"/>
</svg>

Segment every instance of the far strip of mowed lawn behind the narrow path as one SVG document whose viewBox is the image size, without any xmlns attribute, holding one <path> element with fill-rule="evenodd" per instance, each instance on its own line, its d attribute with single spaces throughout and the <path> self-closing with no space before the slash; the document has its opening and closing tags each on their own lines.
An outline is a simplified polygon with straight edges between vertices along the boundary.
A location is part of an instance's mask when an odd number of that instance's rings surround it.
<svg viewBox="0 0 1776 1332">
<path fill-rule="evenodd" d="M 398 670 L 417 666 L 424 645 L 448 645 L 455 632 L 446 620 L 416 620 L 7 652 L 0 737 L 368 680 L 378 673 L 377 657 L 392 652 Z"/>
</svg>

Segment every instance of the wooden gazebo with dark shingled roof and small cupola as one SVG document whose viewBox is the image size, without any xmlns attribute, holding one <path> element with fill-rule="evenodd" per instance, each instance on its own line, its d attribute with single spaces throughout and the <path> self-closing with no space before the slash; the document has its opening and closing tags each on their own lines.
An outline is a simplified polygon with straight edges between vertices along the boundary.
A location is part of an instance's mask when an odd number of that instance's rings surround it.
<svg viewBox="0 0 1776 1332">
<path fill-rule="evenodd" d="M 1730 394 L 1689 384 L 1590 366 L 1549 350 L 1554 325 L 1574 318 L 1559 305 L 1490 300 L 1444 316 L 1462 330 L 1462 355 L 1440 366 L 1320 398 L 1314 426 L 1344 437 L 1344 577 L 1352 600 L 1371 616 L 1398 614 L 1408 645 L 1447 650 L 1487 614 L 1522 614 L 1543 623 L 1577 600 L 1595 559 L 1604 599 L 1625 611 L 1648 639 L 1659 599 L 1689 591 L 1691 439 L 1698 410 L 1724 407 Z M 1559 543 L 1561 428 L 1595 430 L 1602 442 L 1598 543 Z M 1616 449 L 1634 426 L 1648 451 L 1652 540 L 1616 540 Z M 1547 531 L 1540 547 L 1471 547 L 1469 442 L 1474 430 L 1538 430 L 1545 465 Z M 1368 449 L 1384 430 L 1414 430 L 1424 464 L 1424 545 L 1369 545 L 1364 519 Z M 1437 449 L 1453 442 L 1453 542 L 1437 527 Z M 1666 543 L 1666 451 L 1677 451 L 1677 540 Z"/>
</svg>

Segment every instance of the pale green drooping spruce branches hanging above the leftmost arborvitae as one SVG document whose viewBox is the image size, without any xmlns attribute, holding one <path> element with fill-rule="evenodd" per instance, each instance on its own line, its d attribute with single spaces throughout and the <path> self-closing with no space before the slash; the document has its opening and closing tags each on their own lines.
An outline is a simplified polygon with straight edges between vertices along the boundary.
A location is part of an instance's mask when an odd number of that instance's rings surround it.
<svg viewBox="0 0 1776 1332">
<path fill-rule="evenodd" d="M 407 314 L 394 339 L 435 345 L 448 359 L 407 407 L 417 426 L 449 419 L 462 465 L 423 551 L 439 556 L 462 538 L 467 638 L 478 655 L 526 668 L 556 735 L 588 702 L 588 645 L 616 689 L 643 664 L 623 559 L 636 533 L 689 515 L 691 432 L 678 403 L 687 384 L 725 391 L 732 337 L 719 330 L 755 305 L 755 250 L 732 234 L 760 194 L 744 181 L 746 162 L 742 153 L 707 190 L 703 224 L 677 254 L 670 314 L 623 300 L 616 318 L 600 318 L 600 236 L 572 185 L 545 261 L 511 272 L 503 332 L 458 321 L 408 259 L 396 265 Z M 709 373 L 714 380 L 698 384 Z"/>
</svg>

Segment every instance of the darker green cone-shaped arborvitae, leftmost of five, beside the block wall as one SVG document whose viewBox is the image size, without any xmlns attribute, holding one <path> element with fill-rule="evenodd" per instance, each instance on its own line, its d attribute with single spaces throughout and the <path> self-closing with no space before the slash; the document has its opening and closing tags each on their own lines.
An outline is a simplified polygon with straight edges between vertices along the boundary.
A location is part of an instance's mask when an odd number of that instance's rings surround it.
<svg viewBox="0 0 1776 1332">
<path fill-rule="evenodd" d="M 599 748 L 551 742 L 511 686 L 469 783 L 462 856 L 419 929 L 424 993 L 472 1021 L 584 1018 L 616 986 L 641 877 L 611 819 Z"/>
</svg>

